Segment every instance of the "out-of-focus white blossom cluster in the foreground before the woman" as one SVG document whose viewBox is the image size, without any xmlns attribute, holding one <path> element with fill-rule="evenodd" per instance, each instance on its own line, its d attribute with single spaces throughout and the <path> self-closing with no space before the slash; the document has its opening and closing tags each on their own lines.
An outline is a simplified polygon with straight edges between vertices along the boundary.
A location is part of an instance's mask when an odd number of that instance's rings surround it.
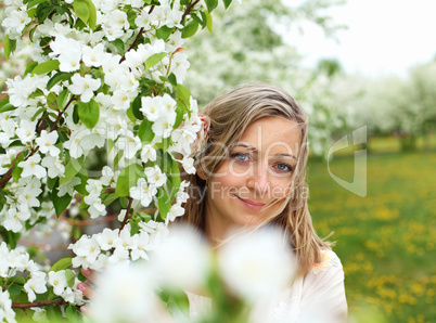
<svg viewBox="0 0 436 323">
<path fill-rule="evenodd" d="M 214 316 L 216 311 L 223 310 L 219 308 L 220 297 L 231 297 L 235 302 L 242 300 L 244 315 L 247 315 L 255 306 L 265 305 L 271 295 L 282 292 L 295 279 L 298 262 L 284 244 L 283 233 L 269 228 L 234 232 L 219 251 L 214 253 L 197 231 L 175 225 L 156 245 L 150 262 L 108 266 L 97 281 L 99 293 L 90 313 L 97 322 L 117 322 L 120 315 L 126 321 L 165 321 L 168 316 L 156 306 L 153 292 L 169 289 L 177 295 L 179 290 L 185 297 L 183 290 L 215 288 L 209 297 L 217 306 L 196 313 L 197 316 L 192 312 L 191 318 L 187 316 L 190 312 L 187 302 L 177 303 L 175 309 L 168 300 L 175 321 L 214 321 L 211 318 L 219 316 Z M 217 264 L 219 271 L 216 271 Z M 215 279 L 223 284 L 211 283 L 211 277 L 217 274 Z M 221 290 L 217 290 L 219 288 Z"/>
</svg>

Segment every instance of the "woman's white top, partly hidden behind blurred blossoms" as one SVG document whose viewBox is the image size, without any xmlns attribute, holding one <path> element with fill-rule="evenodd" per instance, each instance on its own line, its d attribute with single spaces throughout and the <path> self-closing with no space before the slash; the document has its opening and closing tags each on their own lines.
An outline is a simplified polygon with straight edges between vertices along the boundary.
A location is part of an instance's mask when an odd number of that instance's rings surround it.
<svg viewBox="0 0 436 323">
<path fill-rule="evenodd" d="M 211 299 L 188 290 L 191 321 L 211 310 Z M 256 306 L 251 322 L 344 322 L 347 301 L 344 270 L 332 250 L 322 251 L 322 261 L 297 279 L 292 286 Z"/>
</svg>

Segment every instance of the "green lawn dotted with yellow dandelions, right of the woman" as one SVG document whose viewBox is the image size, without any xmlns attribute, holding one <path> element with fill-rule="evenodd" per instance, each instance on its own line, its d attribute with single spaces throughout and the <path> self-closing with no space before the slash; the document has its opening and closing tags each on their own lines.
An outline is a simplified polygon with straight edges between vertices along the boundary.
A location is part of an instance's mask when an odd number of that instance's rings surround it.
<svg viewBox="0 0 436 323">
<path fill-rule="evenodd" d="M 350 315 L 357 322 L 436 322 L 436 152 L 368 156 L 368 195 L 309 164 L 309 207 L 318 233 L 334 231 Z M 351 181 L 352 156 L 330 162 Z"/>
</svg>

